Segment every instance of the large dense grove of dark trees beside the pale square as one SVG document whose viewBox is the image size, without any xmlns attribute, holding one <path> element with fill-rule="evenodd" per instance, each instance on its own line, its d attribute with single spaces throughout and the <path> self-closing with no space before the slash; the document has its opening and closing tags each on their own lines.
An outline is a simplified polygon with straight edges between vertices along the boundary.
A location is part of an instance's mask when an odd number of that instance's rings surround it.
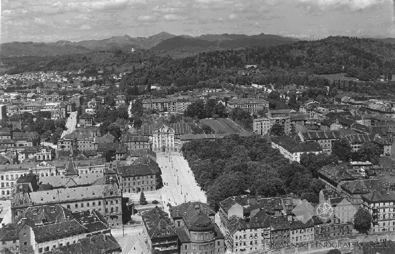
<svg viewBox="0 0 395 254">
<path fill-rule="evenodd" d="M 336 156 L 309 154 L 302 156 L 300 164 L 290 163 L 259 135 L 194 140 L 184 144 L 182 151 L 208 202 L 216 208 L 229 196 L 247 193 L 270 197 L 293 192 L 318 202 L 324 184 L 315 178 L 317 172 L 337 161 Z"/>
</svg>

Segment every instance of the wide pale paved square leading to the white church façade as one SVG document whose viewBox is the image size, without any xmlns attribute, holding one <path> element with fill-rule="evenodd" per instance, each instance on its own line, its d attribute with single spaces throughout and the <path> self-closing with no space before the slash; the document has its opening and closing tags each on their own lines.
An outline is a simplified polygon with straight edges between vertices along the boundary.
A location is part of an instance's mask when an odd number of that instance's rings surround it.
<svg viewBox="0 0 395 254">
<path fill-rule="evenodd" d="M 165 185 L 160 189 L 160 194 L 166 212 L 167 203 L 174 206 L 188 201 L 207 202 L 205 193 L 197 185 L 183 156 L 179 153 L 157 153 L 156 162 L 162 168 L 162 180 Z"/>
</svg>

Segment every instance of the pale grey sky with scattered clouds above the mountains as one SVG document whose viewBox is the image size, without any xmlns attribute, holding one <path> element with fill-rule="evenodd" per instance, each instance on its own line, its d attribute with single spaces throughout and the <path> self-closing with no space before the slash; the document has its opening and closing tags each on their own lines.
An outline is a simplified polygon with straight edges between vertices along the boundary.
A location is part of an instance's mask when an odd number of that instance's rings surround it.
<svg viewBox="0 0 395 254">
<path fill-rule="evenodd" d="M 1 0 L 0 41 L 80 41 L 162 31 L 395 37 L 395 0 Z"/>
</svg>

